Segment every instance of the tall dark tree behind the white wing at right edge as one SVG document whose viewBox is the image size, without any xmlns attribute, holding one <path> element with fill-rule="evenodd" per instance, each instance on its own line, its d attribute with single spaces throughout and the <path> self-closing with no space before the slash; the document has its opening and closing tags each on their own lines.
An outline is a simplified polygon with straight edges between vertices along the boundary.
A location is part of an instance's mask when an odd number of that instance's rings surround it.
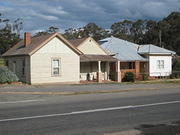
<svg viewBox="0 0 180 135">
<path fill-rule="evenodd" d="M 148 21 L 148 26 L 144 44 L 155 44 L 180 54 L 180 12 L 172 12 L 159 22 Z"/>
</svg>

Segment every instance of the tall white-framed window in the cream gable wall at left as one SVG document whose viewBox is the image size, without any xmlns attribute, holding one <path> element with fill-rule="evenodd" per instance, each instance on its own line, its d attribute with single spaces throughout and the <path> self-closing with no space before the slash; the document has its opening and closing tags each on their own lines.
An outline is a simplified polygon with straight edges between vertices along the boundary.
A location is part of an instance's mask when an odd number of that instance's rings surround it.
<svg viewBox="0 0 180 135">
<path fill-rule="evenodd" d="M 52 75 L 60 75 L 60 59 L 52 59 Z"/>
</svg>

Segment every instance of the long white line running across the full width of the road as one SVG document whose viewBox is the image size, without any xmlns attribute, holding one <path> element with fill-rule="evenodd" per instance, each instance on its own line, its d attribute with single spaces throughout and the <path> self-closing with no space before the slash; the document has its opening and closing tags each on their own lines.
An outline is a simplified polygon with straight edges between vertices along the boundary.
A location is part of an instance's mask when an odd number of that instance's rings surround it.
<svg viewBox="0 0 180 135">
<path fill-rule="evenodd" d="M 55 117 L 55 116 L 68 116 L 68 115 L 75 115 L 75 114 L 86 114 L 86 113 L 112 111 L 112 110 L 123 110 L 123 109 L 158 106 L 158 105 L 175 104 L 175 103 L 180 103 L 180 101 L 160 102 L 160 103 L 143 104 L 143 105 L 130 105 L 130 106 L 121 106 L 121 107 L 110 107 L 110 108 L 92 109 L 92 110 L 84 110 L 84 111 L 75 111 L 75 112 L 70 112 L 70 113 L 37 115 L 37 116 L 21 117 L 21 118 L 9 118 L 9 119 L 1 119 L 0 122 L 47 118 L 47 117 Z"/>
</svg>

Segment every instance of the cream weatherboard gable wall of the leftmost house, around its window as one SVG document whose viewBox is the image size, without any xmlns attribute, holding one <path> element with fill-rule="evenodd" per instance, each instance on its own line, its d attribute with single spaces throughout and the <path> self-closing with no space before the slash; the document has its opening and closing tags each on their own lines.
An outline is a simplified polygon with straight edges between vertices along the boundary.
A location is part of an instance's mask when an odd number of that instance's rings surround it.
<svg viewBox="0 0 180 135">
<path fill-rule="evenodd" d="M 60 76 L 52 75 L 52 58 L 59 58 Z M 79 56 L 57 37 L 31 56 L 31 83 L 79 82 Z"/>
</svg>

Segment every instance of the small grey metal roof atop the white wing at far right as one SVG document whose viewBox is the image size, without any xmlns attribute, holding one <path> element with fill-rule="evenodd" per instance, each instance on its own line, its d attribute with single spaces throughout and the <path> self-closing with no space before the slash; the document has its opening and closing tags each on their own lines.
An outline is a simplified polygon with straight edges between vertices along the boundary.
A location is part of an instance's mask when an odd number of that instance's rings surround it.
<svg viewBox="0 0 180 135">
<path fill-rule="evenodd" d="M 174 51 L 167 50 L 152 44 L 140 45 L 138 49 L 139 54 L 176 54 Z"/>
</svg>

